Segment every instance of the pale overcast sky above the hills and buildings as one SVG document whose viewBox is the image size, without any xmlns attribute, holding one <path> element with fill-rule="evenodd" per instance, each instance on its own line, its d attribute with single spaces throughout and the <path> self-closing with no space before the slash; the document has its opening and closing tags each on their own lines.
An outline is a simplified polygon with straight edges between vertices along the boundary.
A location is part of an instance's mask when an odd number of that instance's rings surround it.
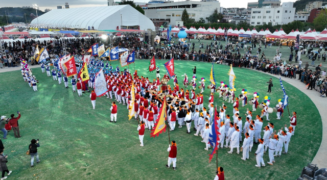
<svg viewBox="0 0 327 180">
<path fill-rule="evenodd" d="M 120 0 L 114 0 L 118 2 Z M 174 0 L 178 2 L 178 0 Z M 193 0 L 196 1 L 196 0 Z M 198 0 L 199 1 L 199 0 Z M 246 8 L 247 3 L 257 2 L 258 0 L 232 0 L 226 1 L 221 0 L 220 6 L 224 8 Z M 282 2 L 295 2 L 296 0 L 282 0 Z M 37 4 L 40 10 L 44 9 L 57 9 L 57 6 L 64 7 L 65 3 L 68 2 L 70 8 L 78 7 L 92 7 L 92 6 L 107 6 L 107 0 L 14 0 L 5 1 L 2 0 L 1 7 L 22 7 L 22 6 L 32 6 L 32 4 Z M 134 2 L 147 3 L 149 0 L 134 0 Z"/>
</svg>

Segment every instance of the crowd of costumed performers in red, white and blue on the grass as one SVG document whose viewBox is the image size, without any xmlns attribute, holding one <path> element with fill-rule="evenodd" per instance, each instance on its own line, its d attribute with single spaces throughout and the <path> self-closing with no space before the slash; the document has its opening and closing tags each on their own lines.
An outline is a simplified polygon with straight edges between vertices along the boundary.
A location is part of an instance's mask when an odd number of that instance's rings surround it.
<svg viewBox="0 0 327 180">
<path fill-rule="evenodd" d="M 95 74 L 104 66 L 102 61 L 97 59 L 91 60 L 88 64 L 88 71 L 90 79 L 88 81 L 82 82 L 81 78 L 73 76 L 71 84 L 73 87 L 73 92 L 78 91 L 78 95 L 82 96 L 82 93 L 88 90 L 88 88 L 94 88 L 94 76 Z M 36 88 L 36 79 L 35 76 L 32 76 L 32 71 L 25 63 L 22 61 L 21 72 L 23 78 L 26 82 L 29 82 L 30 86 L 33 86 L 34 91 L 37 91 Z M 48 76 L 51 76 L 50 66 L 41 64 L 42 72 L 45 70 Z M 199 141 L 204 143 L 204 149 L 208 150 L 210 147 L 209 144 L 209 133 L 211 132 L 211 125 L 213 124 L 213 119 L 215 110 L 214 110 L 214 95 L 218 98 L 222 98 L 223 101 L 226 101 L 233 104 L 233 109 L 228 110 L 227 106 L 222 103 L 219 110 L 217 109 L 217 124 L 219 124 L 219 145 L 220 148 L 230 148 L 228 153 L 233 153 L 233 149 L 237 149 L 237 154 L 242 152 L 242 160 L 246 161 L 249 159 L 249 152 L 252 151 L 253 144 L 259 144 L 254 155 L 256 157 L 257 164 L 256 167 L 265 166 L 263 160 L 263 155 L 265 152 L 269 153 L 269 161 L 267 164 L 273 165 L 275 163 L 274 157 L 280 157 L 282 153 L 287 154 L 288 146 L 291 140 L 292 135 L 294 135 L 295 126 L 296 126 L 296 112 L 293 112 L 290 118 L 290 126 L 286 124 L 282 128 L 276 131 L 273 123 L 267 125 L 264 124 L 263 117 L 266 116 L 266 120 L 269 121 L 269 113 L 276 112 L 277 119 L 281 119 L 283 113 L 283 100 L 279 99 L 278 104 L 274 108 L 270 108 L 270 97 L 266 96 L 264 101 L 259 104 L 259 93 L 254 92 L 253 98 L 248 99 L 247 90 L 243 89 L 241 94 L 236 96 L 233 90 L 229 89 L 224 82 L 220 83 L 220 86 L 215 89 L 213 84 L 207 86 L 211 91 L 209 97 L 203 96 L 203 91 L 205 90 L 205 79 L 201 78 L 199 87 L 197 87 L 196 74 L 193 72 L 192 81 L 189 83 L 188 75 L 183 74 L 183 85 L 184 88 L 180 88 L 178 85 L 177 76 L 173 76 L 174 87 L 168 85 L 170 80 L 168 74 L 164 75 L 164 78 L 159 79 L 159 67 L 157 67 L 157 78 L 152 82 L 145 78 L 144 76 L 137 75 L 137 70 L 131 74 L 128 69 L 120 71 L 120 68 L 117 66 L 115 69 L 112 66 L 108 66 L 106 63 L 106 68 L 104 68 L 105 78 L 107 82 L 108 92 L 105 94 L 107 98 L 115 99 L 111 104 L 111 115 L 110 122 L 116 122 L 116 115 L 118 113 L 117 104 L 129 105 L 129 100 L 131 99 L 131 87 L 134 85 L 135 100 L 134 100 L 134 118 L 139 119 L 140 124 L 137 127 L 139 134 L 139 141 L 141 142 L 140 146 L 144 146 L 143 137 L 145 129 L 152 130 L 154 124 L 157 120 L 158 111 L 160 110 L 164 97 L 167 97 L 167 115 L 168 123 L 170 126 L 170 131 L 175 131 L 176 122 L 178 127 L 182 128 L 186 125 L 186 133 L 191 134 L 191 127 L 193 126 L 194 136 L 200 136 Z M 53 80 L 61 84 L 62 74 L 59 69 L 56 67 L 52 69 Z M 65 87 L 68 88 L 68 79 L 63 74 L 63 81 Z M 188 85 L 191 85 L 192 88 L 189 91 L 186 89 Z M 35 88 L 34 88 L 35 86 Z M 200 89 L 200 93 L 196 93 L 196 88 Z M 163 93 L 162 93 L 163 92 Z M 90 94 L 91 102 L 93 109 L 96 108 L 96 99 L 97 95 L 94 91 Z M 203 105 L 203 99 L 208 99 L 208 105 Z M 227 101 L 228 100 L 228 101 Z M 118 103 L 116 103 L 118 102 Z M 239 112 L 239 108 L 246 106 L 247 104 L 252 105 L 252 111 L 247 109 L 246 114 L 242 117 Z M 129 106 L 127 106 L 127 109 Z M 260 115 L 252 115 L 258 108 L 261 108 Z M 262 136 L 263 132 L 263 136 Z M 244 139 L 242 139 L 242 134 L 244 134 Z M 241 144 L 243 142 L 243 144 Z M 241 147 L 241 148 L 240 148 Z M 282 152 L 282 148 L 284 151 Z M 173 169 L 176 170 L 176 155 L 177 155 L 177 146 L 175 141 L 172 141 L 172 144 L 168 148 L 169 151 L 169 160 L 168 168 L 170 164 L 173 163 Z M 221 167 L 217 170 L 217 176 L 215 179 L 218 179 L 218 175 L 223 174 Z M 223 176 L 223 175 L 222 175 Z M 219 177 L 222 179 L 223 177 Z"/>
</svg>

